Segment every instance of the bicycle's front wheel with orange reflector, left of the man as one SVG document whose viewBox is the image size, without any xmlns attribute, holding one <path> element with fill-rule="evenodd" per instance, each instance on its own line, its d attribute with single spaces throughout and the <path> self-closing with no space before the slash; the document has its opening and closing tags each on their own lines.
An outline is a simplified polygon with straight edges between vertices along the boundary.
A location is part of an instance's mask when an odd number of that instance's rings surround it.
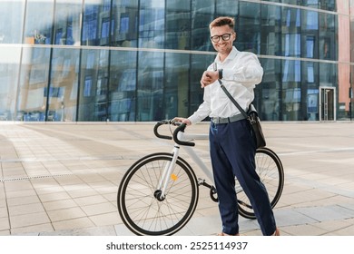
<svg viewBox="0 0 354 254">
<path fill-rule="evenodd" d="M 171 153 L 154 153 L 136 161 L 125 173 L 117 204 L 125 226 L 137 235 L 172 235 L 192 218 L 198 203 L 197 179 L 190 165 L 178 158 L 165 197 L 157 188 Z"/>
</svg>

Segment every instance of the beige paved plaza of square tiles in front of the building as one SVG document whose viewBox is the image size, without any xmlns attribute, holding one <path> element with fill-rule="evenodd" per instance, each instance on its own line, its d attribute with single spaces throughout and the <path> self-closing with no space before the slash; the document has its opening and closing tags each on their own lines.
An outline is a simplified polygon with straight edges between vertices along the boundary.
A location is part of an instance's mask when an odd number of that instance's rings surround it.
<svg viewBox="0 0 354 254">
<path fill-rule="evenodd" d="M 116 205 L 123 173 L 144 155 L 172 151 L 172 142 L 155 138 L 153 124 L 0 122 L 0 235 L 132 235 Z M 263 122 L 263 131 L 285 171 L 274 209 L 281 235 L 353 236 L 354 123 Z M 195 149 L 210 162 L 207 141 Z M 201 187 L 200 196 L 178 235 L 221 231 L 209 190 Z M 240 218 L 240 228 L 261 235 L 255 220 Z"/>
</svg>

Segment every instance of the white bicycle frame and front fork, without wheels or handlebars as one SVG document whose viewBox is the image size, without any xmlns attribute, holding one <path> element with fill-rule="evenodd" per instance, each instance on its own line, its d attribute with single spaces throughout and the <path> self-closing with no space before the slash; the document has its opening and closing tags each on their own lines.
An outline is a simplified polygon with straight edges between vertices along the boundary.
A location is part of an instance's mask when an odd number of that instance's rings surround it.
<svg viewBox="0 0 354 254">
<path fill-rule="evenodd" d="M 196 141 L 196 140 L 207 140 L 208 139 L 208 134 L 186 134 L 184 132 L 178 132 L 178 140 L 182 142 L 191 142 L 191 141 Z M 187 151 L 188 155 L 192 158 L 192 161 L 194 161 L 199 168 L 203 171 L 203 173 L 207 176 L 209 181 L 213 184 L 213 176 L 212 176 L 212 171 L 205 165 L 205 163 L 201 160 L 201 158 L 198 156 L 198 154 L 192 149 L 191 146 L 186 146 L 182 145 L 182 148 Z M 172 175 L 172 171 L 174 168 L 174 165 L 177 161 L 177 158 L 180 153 L 181 146 L 177 143 L 174 144 L 173 150 L 172 150 L 172 161 L 170 163 L 167 163 L 163 172 L 162 172 L 162 178 L 159 182 L 159 186 L 157 190 L 162 190 L 161 197 L 165 197 L 165 190 L 167 190 L 167 185 L 169 182 L 169 177 Z M 202 182 L 199 182 L 202 184 Z"/>
</svg>

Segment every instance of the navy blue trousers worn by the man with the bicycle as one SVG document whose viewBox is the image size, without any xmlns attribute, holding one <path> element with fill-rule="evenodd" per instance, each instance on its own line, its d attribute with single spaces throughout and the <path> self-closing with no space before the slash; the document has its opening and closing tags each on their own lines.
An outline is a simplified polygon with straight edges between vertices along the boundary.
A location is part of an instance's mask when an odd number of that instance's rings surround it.
<svg viewBox="0 0 354 254">
<path fill-rule="evenodd" d="M 239 233 L 235 176 L 251 201 L 263 235 L 271 235 L 276 223 L 267 190 L 255 171 L 255 142 L 246 119 L 215 124 L 210 128 L 211 165 L 218 191 L 222 232 Z"/>
</svg>

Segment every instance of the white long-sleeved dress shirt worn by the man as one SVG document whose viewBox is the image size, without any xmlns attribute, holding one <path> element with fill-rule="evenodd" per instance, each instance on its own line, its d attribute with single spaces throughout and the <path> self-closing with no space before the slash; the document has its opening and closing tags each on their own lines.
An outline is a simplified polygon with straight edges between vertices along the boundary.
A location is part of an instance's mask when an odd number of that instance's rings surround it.
<svg viewBox="0 0 354 254">
<path fill-rule="evenodd" d="M 255 54 L 240 52 L 233 46 L 231 53 L 221 63 L 217 56 L 215 62 L 222 69 L 222 83 L 236 102 L 246 111 L 254 99 L 253 89 L 261 83 L 263 68 Z M 213 70 L 213 64 L 208 67 Z M 227 118 L 241 113 L 221 89 L 218 81 L 204 88 L 204 102 L 188 119 L 192 123 L 201 122 L 207 116 Z"/>
</svg>

